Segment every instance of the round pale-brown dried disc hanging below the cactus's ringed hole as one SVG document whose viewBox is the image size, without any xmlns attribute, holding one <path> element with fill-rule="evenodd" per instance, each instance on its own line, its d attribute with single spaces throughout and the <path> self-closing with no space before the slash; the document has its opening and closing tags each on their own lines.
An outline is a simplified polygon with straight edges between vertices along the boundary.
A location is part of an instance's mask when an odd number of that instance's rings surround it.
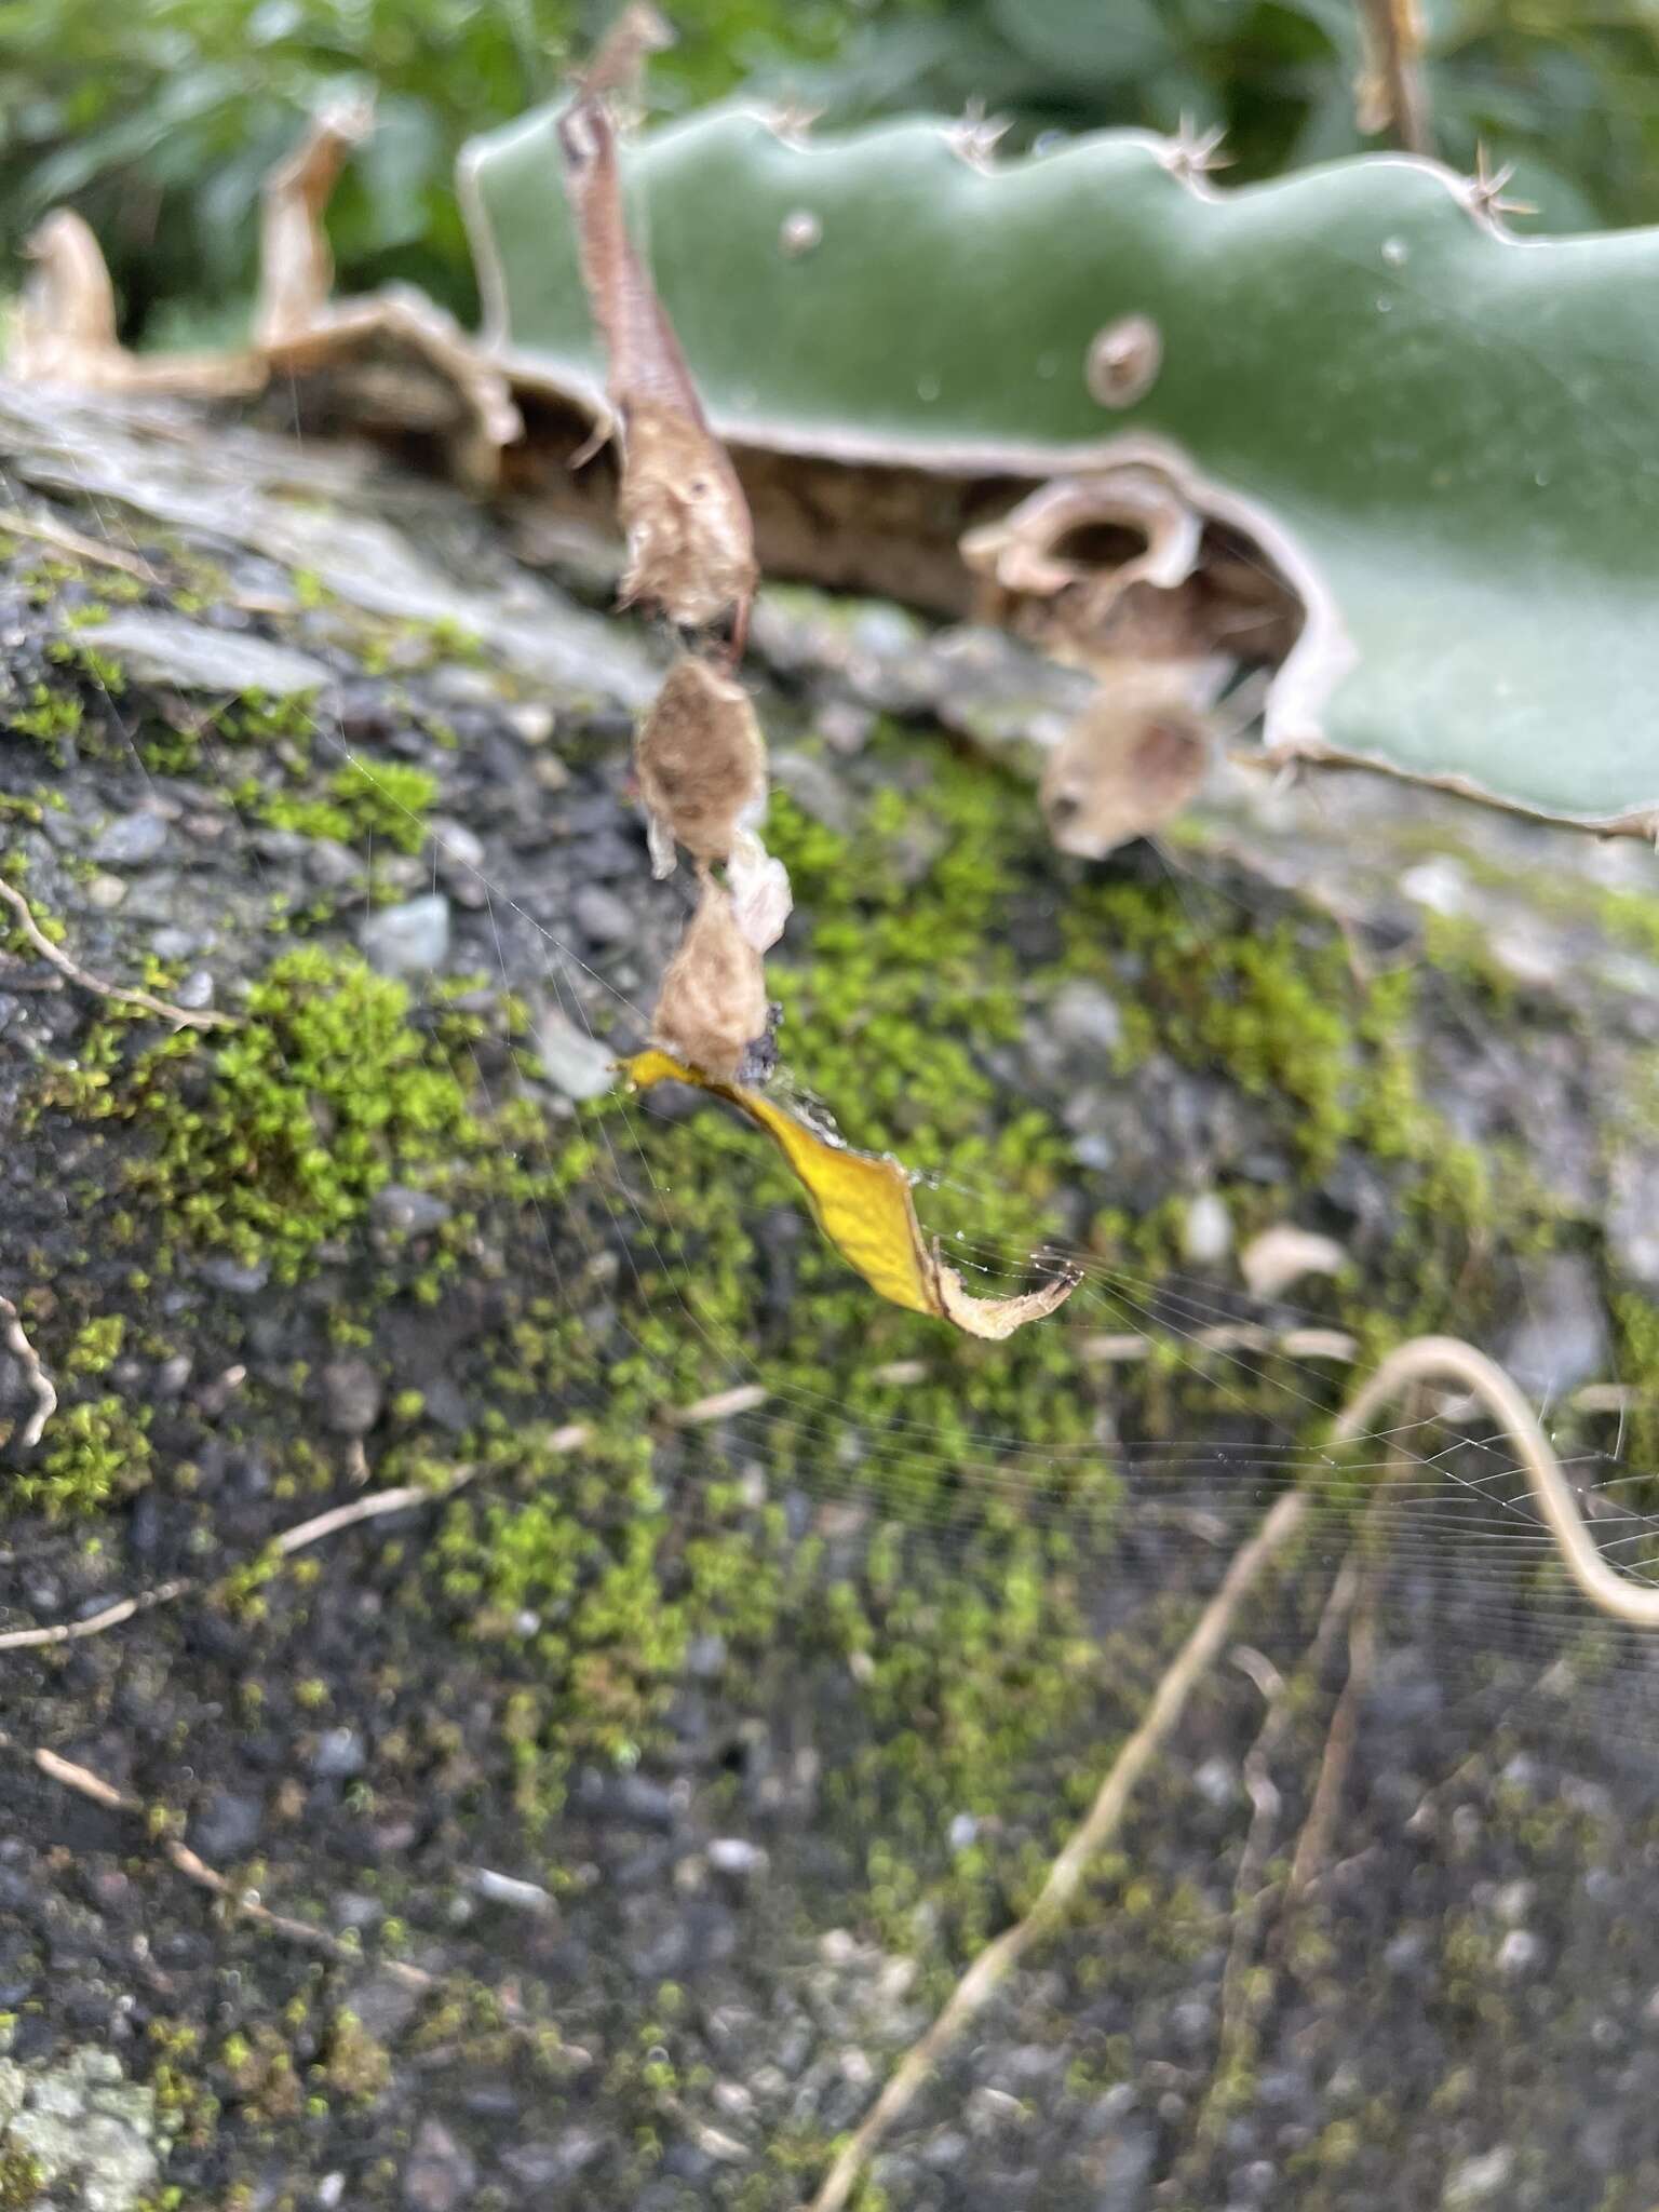
<svg viewBox="0 0 1659 2212">
<path fill-rule="evenodd" d="M 1115 672 L 1048 759 L 1048 834 L 1062 852 L 1102 860 L 1179 814 L 1208 768 L 1210 723 L 1179 666 Z"/>
</svg>

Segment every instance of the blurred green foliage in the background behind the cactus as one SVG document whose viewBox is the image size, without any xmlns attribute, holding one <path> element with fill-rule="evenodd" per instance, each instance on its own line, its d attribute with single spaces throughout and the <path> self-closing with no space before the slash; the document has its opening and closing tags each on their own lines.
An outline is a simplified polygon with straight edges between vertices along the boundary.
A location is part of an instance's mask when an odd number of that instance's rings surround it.
<svg viewBox="0 0 1659 2212">
<path fill-rule="evenodd" d="M 51 206 L 104 241 L 131 334 L 228 336 L 259 181 L 307 111 L 374 82 L 380 124 L 330 230 L 341 285 L 400 276 L 462 316 L 460 142 L 546 97 L 613 0 L 0 0 L 0 232 Z M 1009 115 L 1015 142 L 1225 124 L 1232 175 L 1352 153 L 1356 0 L 684 0 L 650 97 L 752 82 L 830 119 Z M 1546 228 L 1659 217 L 1659 7 L 1425 0 L 1436 144 L 1515 159 Z"/>
</svg>

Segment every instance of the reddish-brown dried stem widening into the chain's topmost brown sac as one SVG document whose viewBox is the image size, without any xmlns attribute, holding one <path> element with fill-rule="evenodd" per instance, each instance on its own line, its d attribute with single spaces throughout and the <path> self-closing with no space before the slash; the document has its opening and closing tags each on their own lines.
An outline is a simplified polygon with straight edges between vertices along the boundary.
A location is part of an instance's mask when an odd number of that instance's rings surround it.
<svg viewBox="0 0 1659 2212">
<path fill-rule="evenodd" d="M 582 246 L 582 281 L 611 356 L 622 422 L 617 513 L 628 540 L 624 602 L 646 599 L 701 630 L 732 615 L 741 653 L 754 597 L 754 529 L 726 447 L 697 387 L 622 208 L 617 137 L 604 100 L 582 95 L 560 119 L 564 184 Z"/>
</svg>

